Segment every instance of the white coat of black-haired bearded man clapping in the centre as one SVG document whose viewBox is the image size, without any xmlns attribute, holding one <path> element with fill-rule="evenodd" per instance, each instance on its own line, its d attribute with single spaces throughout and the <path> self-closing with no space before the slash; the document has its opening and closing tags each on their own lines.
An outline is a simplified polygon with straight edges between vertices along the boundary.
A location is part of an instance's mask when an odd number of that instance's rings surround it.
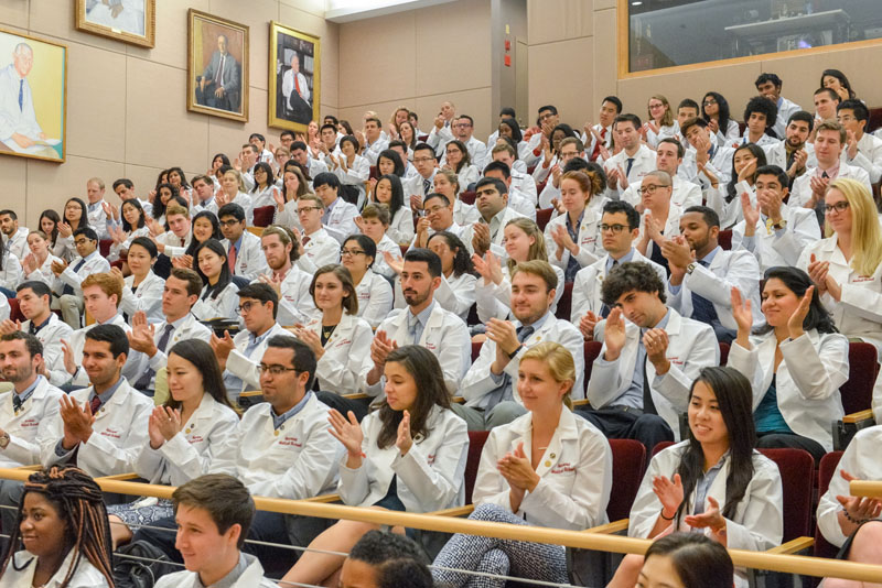
<svg viewBox="0 0 882 588">
<path fill-rule="evenodd" d="M 407 327 L 408 314 L 410 314 L 410 308 L 392 311 L 377 327 L 377 331 L 385 331 L 389 339 L 398 344 L 398 347 L 411 344 Z M 456 389 L 460 388 L 460 380 L 472 363 L 472 338 L 469 335 L 469 327 L 465 326 L 462 318 L 434 303 L 417 345 L 427 348 L 438 358 L 441 372 L 444 374 L 444 385 L 451 394 L 456 392 Z M 386 378 L 383 377 L 374 385 L 368 385 L 365 377 L 372 368 L 373 363 L 362 374 L 362 391 L 372 396 L 378 396 L 384 391 Z"/>
</svg>

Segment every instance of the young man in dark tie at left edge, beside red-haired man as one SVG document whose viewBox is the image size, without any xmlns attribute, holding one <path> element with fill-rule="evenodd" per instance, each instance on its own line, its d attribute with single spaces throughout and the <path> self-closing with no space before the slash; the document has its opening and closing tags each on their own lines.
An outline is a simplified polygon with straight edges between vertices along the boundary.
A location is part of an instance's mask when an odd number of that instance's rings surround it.
<svg viewBox="0 0 882 588">
<path fill-rule="evenodd" d="M 26 320 L 24 323 L 3 320 L 0 323 L 0 335 L 17 330 L 33 335 L 43 346 L 40 373 L 49 377 L 53 371 L 64 370 L 62 339 L 69 341 L 74 329 L 50 309 L 52 291 L 43 282 L 22 282 L 15 288 L 15 297 L 19 301 L 19 309 Z"/>
</svg>

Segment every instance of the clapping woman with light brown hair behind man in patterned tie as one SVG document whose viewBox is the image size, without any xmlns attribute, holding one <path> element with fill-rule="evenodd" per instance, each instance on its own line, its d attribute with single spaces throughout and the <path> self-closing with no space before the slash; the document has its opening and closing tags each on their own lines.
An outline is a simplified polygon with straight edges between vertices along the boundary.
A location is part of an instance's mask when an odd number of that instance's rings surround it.
<svg viewBox="0 0 882 588">
<path fill-rule="evenodd" d="M 476 282 L 475 295 L 477 317 L 486 324 L 491 318 L 505 320 L 512 314 L 512 270 L 521 261 L 548 261 L 546 240 L 538 225 L 528 218 L 509 220 L 505 226 L 505 252 L 508 254 L 505 265 L 487 251 L 484 258 L 472 255 L 472 263 L 482 279 Z M 558 276 L 558 287 L 551 312 L 557 309 L 558 301 L 563 294 L 563 270 L 551 265 Z"/>
</svg>

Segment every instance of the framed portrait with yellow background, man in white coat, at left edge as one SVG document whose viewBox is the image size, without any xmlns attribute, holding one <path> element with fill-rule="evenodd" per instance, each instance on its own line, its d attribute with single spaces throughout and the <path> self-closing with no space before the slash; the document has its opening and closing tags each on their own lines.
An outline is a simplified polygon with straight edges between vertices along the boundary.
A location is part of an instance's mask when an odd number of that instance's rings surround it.
<svg viewBox="0 0 882 588">
<path fill-rule="evenodd" d="M 0 154 L 63 163 L 67 46 L 0 29 Z"/>
</svg>

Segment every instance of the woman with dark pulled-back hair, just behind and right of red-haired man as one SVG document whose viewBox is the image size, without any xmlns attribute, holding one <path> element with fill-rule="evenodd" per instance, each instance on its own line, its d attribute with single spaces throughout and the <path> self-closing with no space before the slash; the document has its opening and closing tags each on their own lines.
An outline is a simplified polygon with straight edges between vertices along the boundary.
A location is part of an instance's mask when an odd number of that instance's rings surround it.
<svg viewBox="0 0 882 588">
<path fill-rule="evenodd" d="M 157 261 L 157 244 L 147 237 L 137 237 L 129 246 L 127 263 L 131 275 L 122 282 L 122 300 L 119 311 L 129 318 L 142 311 L 150 323 L 162 323 L 162 292 L 165 290 L 165 280 L 153 273 L 153 262 Z M 122 280 L 122 272 L 118 268 L 111 271 Z"/>
</svg>

